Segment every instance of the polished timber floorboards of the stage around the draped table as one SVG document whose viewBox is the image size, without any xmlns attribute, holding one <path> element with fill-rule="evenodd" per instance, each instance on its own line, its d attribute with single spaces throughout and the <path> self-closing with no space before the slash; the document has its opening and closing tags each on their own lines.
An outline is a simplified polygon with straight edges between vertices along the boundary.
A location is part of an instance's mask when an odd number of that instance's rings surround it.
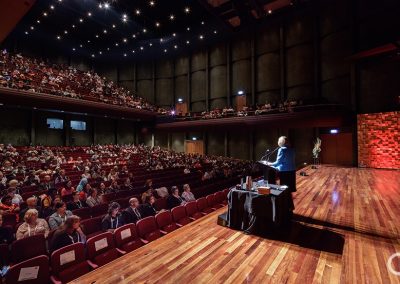
<svg viewBox="0 0 400 284">
<path fill-rule="evenodd" d="M 266 238 L 218 226 L 226 208 L 77 279 L 77 283 L 400 283 L 400 171 L 307 168 L 295 222 Z M 400 271 L 400 258 L 392 266 Z"/>
</svg>

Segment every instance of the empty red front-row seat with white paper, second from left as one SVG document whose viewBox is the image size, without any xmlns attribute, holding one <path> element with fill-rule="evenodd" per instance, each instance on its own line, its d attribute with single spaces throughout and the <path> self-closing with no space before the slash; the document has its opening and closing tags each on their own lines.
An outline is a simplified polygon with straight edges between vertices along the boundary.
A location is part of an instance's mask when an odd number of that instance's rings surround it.
<svg viewBox="0 0 400 284">
<path fill-rule="evenodd" d="M 50 278 L 53 283 L 67 283 L 90 271 L 82 243 L 74 243 L 54 251 L 50 263 Z"/>
</svg>

